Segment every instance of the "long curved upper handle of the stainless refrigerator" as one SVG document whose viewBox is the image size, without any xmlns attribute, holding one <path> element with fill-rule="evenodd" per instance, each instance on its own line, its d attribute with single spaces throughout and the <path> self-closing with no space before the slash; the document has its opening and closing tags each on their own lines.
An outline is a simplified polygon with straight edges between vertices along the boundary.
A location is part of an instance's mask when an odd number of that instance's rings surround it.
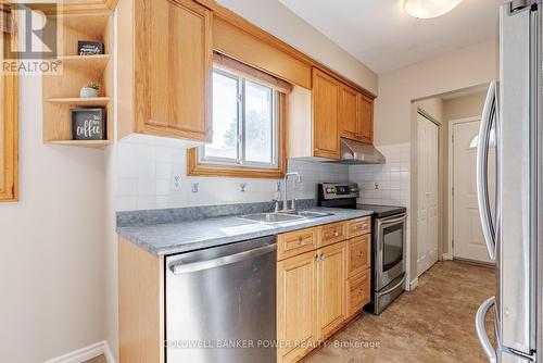
<svg viewBox="0 0 543 363">
<path fill-rule="evenodd" d="M 489 198 L 489 147 L 492 132 L 492 120 L 497 110 L 496 82 L 492 82 L 484 101 L 481 126 L 479 129 L 479 142 L 477 145 L 477 201 L 479 204 L 479 216 L 481 217 L 482 233 L 491 260 L 496 259 L 495 229 L 492 223 Z"/>
</svg>

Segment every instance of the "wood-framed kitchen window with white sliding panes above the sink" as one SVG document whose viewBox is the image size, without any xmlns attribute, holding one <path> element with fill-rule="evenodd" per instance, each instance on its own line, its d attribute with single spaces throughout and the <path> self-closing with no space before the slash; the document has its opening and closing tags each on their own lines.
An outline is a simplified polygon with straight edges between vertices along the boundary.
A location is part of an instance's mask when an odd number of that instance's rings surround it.
<svg viewBox="0 0 543 363">
<path fill-rule="evenodd" d="M 281 177 L 286 92 L 277 85 L 286 83 L 224 55 L 219 61 L 213 71 L 213 140 L 189 152 L 189 175 Z"/>
</svg>

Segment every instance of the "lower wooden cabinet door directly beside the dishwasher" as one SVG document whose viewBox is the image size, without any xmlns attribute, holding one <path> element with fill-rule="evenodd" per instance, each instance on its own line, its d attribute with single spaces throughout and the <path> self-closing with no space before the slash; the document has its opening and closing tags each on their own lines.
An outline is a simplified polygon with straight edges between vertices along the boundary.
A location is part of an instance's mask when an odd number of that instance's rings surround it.
<svg viewBox="0 0 543 363">
<path fill-rule="evenodd" d="M 315 258 L 313 251 L 277 263 L 278 362 L 298 362 L 316 340 Z"/>
</svg>

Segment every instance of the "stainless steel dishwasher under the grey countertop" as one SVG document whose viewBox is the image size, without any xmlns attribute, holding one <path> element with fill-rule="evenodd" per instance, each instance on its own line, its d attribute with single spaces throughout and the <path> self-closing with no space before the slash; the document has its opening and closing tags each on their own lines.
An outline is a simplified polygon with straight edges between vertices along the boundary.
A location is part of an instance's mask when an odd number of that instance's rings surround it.
<svg viewBox="0 0 543 363">
<path fill-rule="evenodd" d="M 275 237 L 166 258 L 166 362 L 276 362 Z"/>
</svg>

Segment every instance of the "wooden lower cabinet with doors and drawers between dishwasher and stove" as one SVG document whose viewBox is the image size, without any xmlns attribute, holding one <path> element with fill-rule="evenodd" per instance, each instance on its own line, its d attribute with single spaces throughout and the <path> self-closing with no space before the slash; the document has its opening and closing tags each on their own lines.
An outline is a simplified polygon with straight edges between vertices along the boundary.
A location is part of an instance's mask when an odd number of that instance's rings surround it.
<svg viewBox="0 0 543 363">
<path fill-rule="evenodd" d="M 362 311 L 370 298 L 370 234 L 346 239 L 346 230 L 368 231 L 370 217 L 278 236 L 277 362 L 299 362 Z M 354 226 L 362 226 L 355 228 Z M 338 230 L 338 236 L 329 231 Z M 343 236 L 338 241 L 334 238 Z M 332 238 L 333 236 L 333 238 Z M 301 238 L 303 237 L 303 238 Z M 281 245 L 280 245 L 281 246 Z M 307 246 L 319 246 L 306 251 Z M 296 251 L 299 252 L 296 254 Z M 296 254 L 296 255 L 292 255 Z"/>
</svg>

